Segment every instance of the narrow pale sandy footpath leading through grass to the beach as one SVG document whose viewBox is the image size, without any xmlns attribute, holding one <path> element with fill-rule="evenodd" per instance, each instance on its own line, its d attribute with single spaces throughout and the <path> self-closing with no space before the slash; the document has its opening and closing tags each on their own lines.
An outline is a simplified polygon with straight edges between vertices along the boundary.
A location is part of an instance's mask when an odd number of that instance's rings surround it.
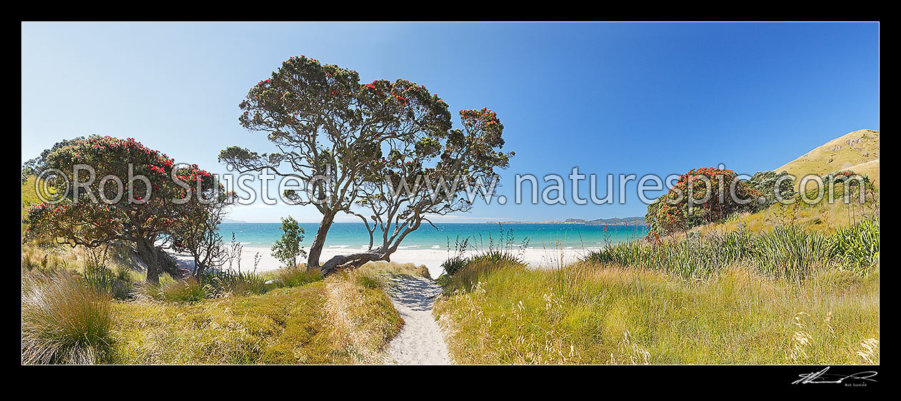
<svg viewBox="0 0 901 401">
<path fill-rule="evenodd" d="M 401 365 L 448 365 L 448 347 L 432 316 L 432 303 L 441 287 L 429 278 L 396 276 L 388 290 L 404 318 L 404 327 L 387 346 L 389 362 Z"/>
</svg>

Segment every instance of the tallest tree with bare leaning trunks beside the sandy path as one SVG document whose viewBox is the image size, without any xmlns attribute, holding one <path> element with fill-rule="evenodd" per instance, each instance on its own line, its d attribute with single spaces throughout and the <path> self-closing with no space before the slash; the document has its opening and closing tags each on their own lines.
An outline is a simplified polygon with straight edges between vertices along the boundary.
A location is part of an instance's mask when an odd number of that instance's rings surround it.
<svg viewBox="0 0 901 401">
<path fill-rule="evenodd" d="M 421 85 L 405 79 L 361 85 L 356 71 L 304 56 L 287 59 L 251 87 L 240 107 L 241 125 L 267 132 L 278 151 L 230 147 L 220 161 L 241 172 L 271 170 L 305 187 L 284 196 L 323 214 L 307 267 L 326 274 L 389 260 L 407 234 L 431 223 L 429 215 L 469 210 L 469 186 L 496 178 L 513 156 L 500 151 L 504 126 L 490 110 L 462 110 L 463 128 L 452 129 L 448 105 Z M 339 214 L 366 223 L 369 249 L 320 263 Z"/>
</svg>

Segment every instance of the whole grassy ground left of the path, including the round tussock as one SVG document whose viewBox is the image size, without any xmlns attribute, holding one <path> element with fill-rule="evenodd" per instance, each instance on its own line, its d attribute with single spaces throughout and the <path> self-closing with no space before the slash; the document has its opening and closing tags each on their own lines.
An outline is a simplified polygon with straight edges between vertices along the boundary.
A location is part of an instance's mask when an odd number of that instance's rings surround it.
<svg viewBox="0 0 901 401">
<path fill-rule="evenodd" d="M 424 270 L 164 275 L 114 299 L 120 272 L 54 255 L 23 247 L 23 363 L 378 363 L 403 325 L 385 276 Z"/>
</svg>

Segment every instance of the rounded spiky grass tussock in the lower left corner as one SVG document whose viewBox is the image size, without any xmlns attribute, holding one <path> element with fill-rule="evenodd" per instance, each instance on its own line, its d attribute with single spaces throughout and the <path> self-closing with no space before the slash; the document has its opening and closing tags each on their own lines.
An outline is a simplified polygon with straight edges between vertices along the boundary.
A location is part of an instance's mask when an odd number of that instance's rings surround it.
<svg viewBox="0 0 901 401">
<path fill-rule="evenodd" d="M 23 272 L 22 361 L 93 364 L 114 347 L 109 294 L 71 273 Z"/>
</svg>

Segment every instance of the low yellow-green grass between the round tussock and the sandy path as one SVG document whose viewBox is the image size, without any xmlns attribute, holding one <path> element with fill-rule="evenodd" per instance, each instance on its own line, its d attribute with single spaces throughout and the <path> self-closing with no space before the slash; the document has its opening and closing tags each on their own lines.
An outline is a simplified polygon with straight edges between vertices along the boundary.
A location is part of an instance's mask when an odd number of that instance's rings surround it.
<svg viewBox="0 0 901 401">
<path fill-rule="evenodd" d="M 378 363 L 403 319 L 379 275 L 408 271 L 364 266 L 262 295 L 144 300 L 114 305 L 121 316 L 115 363 Z M 304 279 L 304 280 L 305 280 Z M 304 281 L 301 280 L 301 281 Z"/>
</svg>

